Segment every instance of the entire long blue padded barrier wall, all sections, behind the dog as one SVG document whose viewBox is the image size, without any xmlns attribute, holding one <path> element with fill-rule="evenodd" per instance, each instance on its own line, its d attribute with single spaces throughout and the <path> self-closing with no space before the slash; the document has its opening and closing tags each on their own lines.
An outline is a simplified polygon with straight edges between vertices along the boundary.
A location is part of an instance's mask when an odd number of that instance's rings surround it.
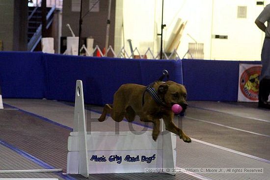
<svg viewBox="0 0 270 180">
<path fill-rule="evenodd" d="M 167 69 L 170 80 L 184 83 L 189 101 L 237 101 L 239 64 L 260 61 L 147 60 L 0 52 L 3 98 L 75 100 L 76 80 L 83 81 L 85 103 L 112 103 L 125 83 L 147 85 Z M 183 76 L 182 76 L 183 71 Z"/>
</svg>

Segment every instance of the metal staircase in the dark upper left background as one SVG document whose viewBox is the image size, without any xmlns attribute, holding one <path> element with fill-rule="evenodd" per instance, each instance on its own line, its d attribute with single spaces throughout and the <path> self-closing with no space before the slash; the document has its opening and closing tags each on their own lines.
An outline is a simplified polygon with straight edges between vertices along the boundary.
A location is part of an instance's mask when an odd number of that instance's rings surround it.
<svg viewBox="0 0 270 180">
<path fill-rule="evenodd" d="M 53 23 L 55 7 L 47 7 L 47 26 L 48 29 Z M 27 31 L 27 51 L 34 51 L 40 42 L 42 35 L 42 13 L 41 7 L 28 7 L 28 31 Z"/>
</svg>

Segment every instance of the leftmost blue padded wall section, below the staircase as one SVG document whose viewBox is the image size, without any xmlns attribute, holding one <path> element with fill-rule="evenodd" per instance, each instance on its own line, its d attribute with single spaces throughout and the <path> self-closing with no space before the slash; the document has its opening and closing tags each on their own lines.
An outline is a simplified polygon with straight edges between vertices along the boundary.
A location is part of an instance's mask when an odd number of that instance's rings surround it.
<svg viewBox="0 0 270 180">
<path fill-rule="evenodd" d="M 45 69 L 41 52 L 0 52 L 3 98 L 44 98 Z"/>
</svg>

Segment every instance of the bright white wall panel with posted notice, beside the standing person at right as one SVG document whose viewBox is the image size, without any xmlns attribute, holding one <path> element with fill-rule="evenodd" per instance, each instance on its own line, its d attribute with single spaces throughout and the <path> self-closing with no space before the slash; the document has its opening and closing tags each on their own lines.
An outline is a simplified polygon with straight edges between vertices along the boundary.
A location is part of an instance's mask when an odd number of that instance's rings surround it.
<svg viewBox="0 0 270 180">
<path fill-rule="evenodd" d="M 255 19 L 263 10 L 254 0 L 213 0 L 211 59 L 260 60 L 262 31 Z M 246 18 L 237 18 L 238 6 L 246 6 Z M 214 38 L 226 35 L 228 39 Z"/>
</svg>

